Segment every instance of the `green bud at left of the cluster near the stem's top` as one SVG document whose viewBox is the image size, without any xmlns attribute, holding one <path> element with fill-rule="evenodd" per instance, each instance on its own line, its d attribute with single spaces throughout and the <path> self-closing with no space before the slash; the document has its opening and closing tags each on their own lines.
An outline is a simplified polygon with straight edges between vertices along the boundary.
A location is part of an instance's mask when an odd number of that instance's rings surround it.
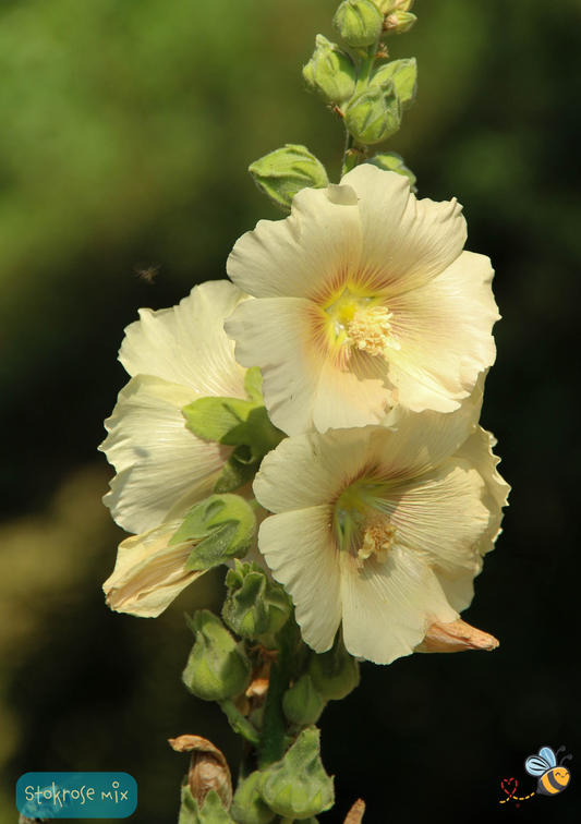
<svg viewBox="0 0 581 824">
<path fill-rule="evenodd" d="M 316 49 L 303 69 L 308 92 L 327 104 L 340 105 L 355 94 L 358 70 L 351 57 L 323 35 L 317 35 Z"/>
</svg>

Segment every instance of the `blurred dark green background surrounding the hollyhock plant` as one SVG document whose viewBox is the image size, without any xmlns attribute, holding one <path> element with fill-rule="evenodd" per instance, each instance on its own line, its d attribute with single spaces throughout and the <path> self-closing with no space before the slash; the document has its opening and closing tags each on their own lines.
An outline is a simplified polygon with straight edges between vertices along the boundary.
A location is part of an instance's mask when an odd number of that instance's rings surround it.
<svg viewBox="0 0 581 824">
<path fill-rule="evenodd" d="M 215 607 L 206 575 L 164 616 L 113 615 L 101 582 L 122 533 L 100 504 L 96 447 L 126 377 L 116 362 L 140 306 L 225 277 L 235 239 L 279 214 L 247 166 L 303 143 L 337 181 L 342 126 L 304 94 L 337 0 L 0 2 L 0 823 L 27 771 L 126 771 L 136 824 L 172 824 L 187 758 L 167 739 L 239 747 L 180 683 L 183 610 Z M 342 822 L 569 820 L 579 810 L 579 295 L 581 3 L 417 0 L 389 41 L 419 60 L 415 106 L 385 144 L 420 196 L 464 204 L 468 247 L 493 258 L 505 319 L 483 423 L 513 486 L 505 533 L 464 615 L 492 655 L 362 666 L 323 720 Z M 160 266 L 153 284 L 134 267 Z M 557 799 L 523 761 L 566 744 Z M 577 748 L 577 749 L 576 749 Z"/>
</svg>

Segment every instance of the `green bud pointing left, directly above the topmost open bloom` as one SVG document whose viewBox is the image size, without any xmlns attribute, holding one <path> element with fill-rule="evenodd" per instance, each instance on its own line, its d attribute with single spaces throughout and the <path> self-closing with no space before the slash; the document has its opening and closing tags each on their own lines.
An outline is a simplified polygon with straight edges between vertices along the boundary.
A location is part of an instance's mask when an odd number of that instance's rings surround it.
<svg viewBox="0 0 581 824">
<path fill-rule="evenodd" d="M 304 146 L 291 143 L 256 160 L 249 171 L 258 189 L 286 211 L 301 189 L 329 185 L 323 163 Z"/>
</svg>

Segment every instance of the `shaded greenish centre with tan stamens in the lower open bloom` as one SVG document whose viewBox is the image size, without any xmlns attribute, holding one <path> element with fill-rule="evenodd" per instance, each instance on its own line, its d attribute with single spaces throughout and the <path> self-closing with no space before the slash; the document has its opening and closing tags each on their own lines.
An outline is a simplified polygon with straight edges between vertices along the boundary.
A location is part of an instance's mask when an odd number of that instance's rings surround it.
<svg viewBox="0 0 581 824">
<path fill-rule="evenodd" d="M 387 560 L 389 550 L 397 546 L 396 525 L 385 512 L 380 512 L 365 498 L 368 487 L 352 484 L 341 493 L 335 505 L 335 520 L 341 544 L 356 552 L 356 565 L 375 556 L 379 564 Z"/>
</svg>

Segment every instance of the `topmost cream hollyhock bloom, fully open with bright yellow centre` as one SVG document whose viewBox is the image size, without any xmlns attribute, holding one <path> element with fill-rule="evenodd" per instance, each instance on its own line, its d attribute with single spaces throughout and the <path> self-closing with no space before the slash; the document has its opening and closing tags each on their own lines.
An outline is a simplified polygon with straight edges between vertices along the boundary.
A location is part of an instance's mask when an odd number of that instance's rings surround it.
<svg viewBox="0 0 581 824">
<path fill-rule="evenodd" d="M 407 178 L 363 165 L 303 189 L 290 217 L 261 221 L 228 274 L 258 298 L 226 322 L 259 366 L 289 435 L 382 421 L 396 402 L 451 412 L 495 360 L 491 262 L 463 251 L 456 201 L 417 201 Z"/>
</svg>

